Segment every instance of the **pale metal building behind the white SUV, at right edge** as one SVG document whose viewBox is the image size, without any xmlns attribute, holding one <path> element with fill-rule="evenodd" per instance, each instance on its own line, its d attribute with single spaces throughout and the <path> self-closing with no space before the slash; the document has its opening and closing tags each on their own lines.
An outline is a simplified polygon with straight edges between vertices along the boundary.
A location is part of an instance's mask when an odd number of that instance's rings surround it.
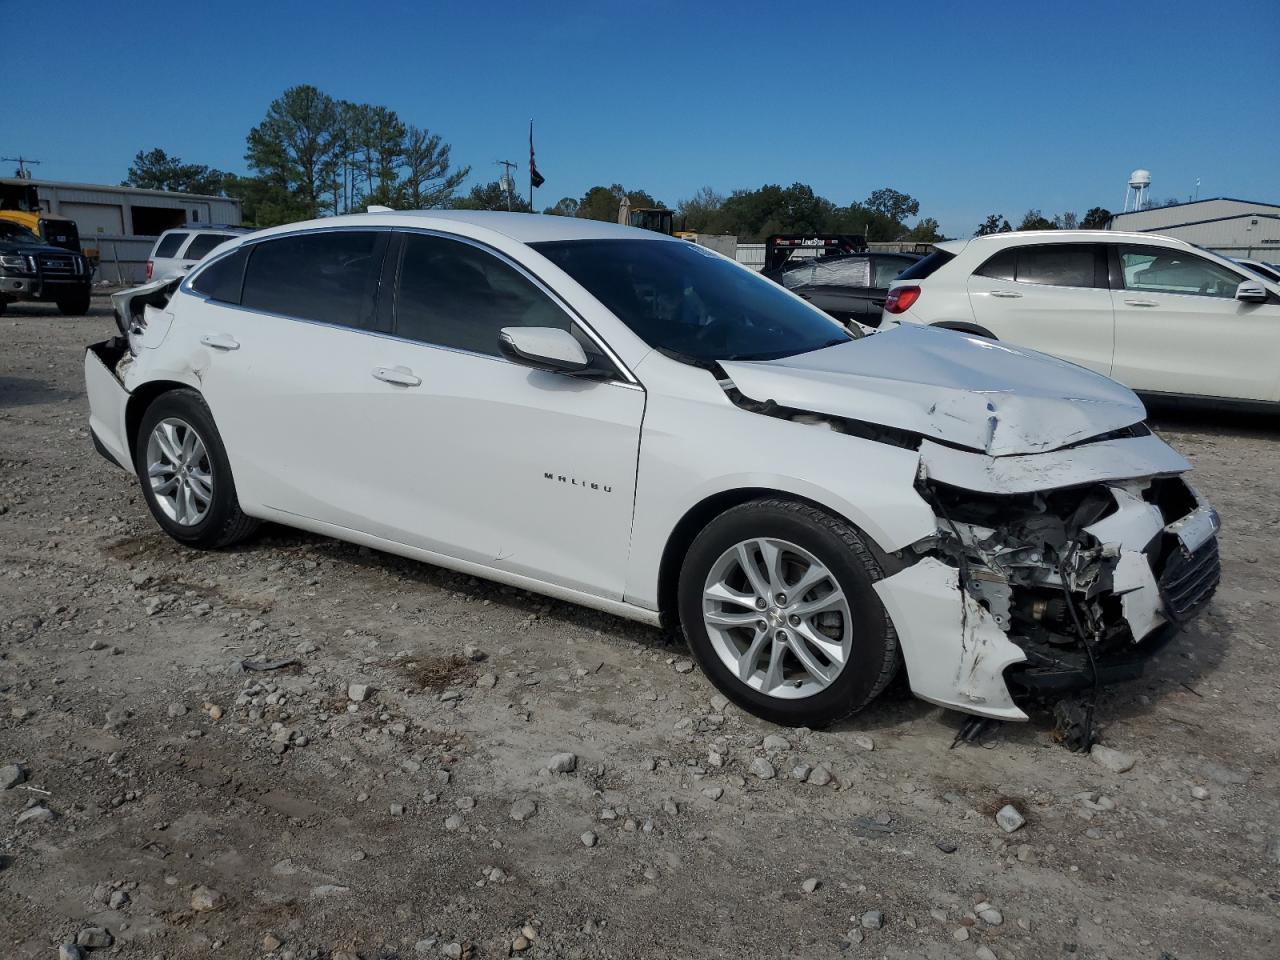
<svg viewBox="0 0 1280 960">
<path fill-rule="evenodd" d="M 1280 262 L 1280 205 L 1217 197 L 1134 210 L 1111 218 L 1112 230 L 1176 237 L 1240 260 Z"/>
</svg>

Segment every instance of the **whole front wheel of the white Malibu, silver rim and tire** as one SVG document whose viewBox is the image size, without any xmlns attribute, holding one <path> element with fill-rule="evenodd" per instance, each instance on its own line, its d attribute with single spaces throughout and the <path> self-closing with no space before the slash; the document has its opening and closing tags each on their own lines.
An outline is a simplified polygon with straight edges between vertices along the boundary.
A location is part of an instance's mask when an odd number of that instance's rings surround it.
<svg viewBox="0 0 1280 960">
<path fill-rule="evenodd" d="M 882 576 L 847 522 L 795 500 L 753 500 L 689 548 L 681 626 L 703 672 L 739 707 L 827 726 L 897 672 L 897 634 L 873 586 Z"/>
</svg>

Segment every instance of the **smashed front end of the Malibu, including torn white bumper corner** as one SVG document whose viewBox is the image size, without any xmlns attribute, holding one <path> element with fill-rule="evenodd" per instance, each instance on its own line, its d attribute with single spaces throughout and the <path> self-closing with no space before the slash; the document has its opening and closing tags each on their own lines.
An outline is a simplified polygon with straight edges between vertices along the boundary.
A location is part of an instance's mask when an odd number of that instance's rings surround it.
<svg viewBox="0 0 1280 960">
<path fill-rule="evenodd" d="M 929 595 L 957 630 L 959 648 L 928 644 L 913 671 L 948 707 L 1024 719 L 1018 695 L 1137 677 L 1219 582 L 1217 515 L 1179 476 L 998 494 L 923 474 L 918 488 L 937 534 L 881 595 L 904 620 Z"/>
</svg>

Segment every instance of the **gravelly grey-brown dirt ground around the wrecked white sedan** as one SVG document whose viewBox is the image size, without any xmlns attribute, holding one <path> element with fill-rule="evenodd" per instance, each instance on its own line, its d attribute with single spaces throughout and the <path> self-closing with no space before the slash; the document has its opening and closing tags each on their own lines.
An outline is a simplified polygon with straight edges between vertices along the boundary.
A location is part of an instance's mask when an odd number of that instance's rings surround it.
<svg viewBox="0 0 1280 960">
<path fill-rule="evenodd" d="M 1157 421 L 1224 582 L 1105 695 L 1115 773 L 901 684 L 771 728 L 658 631 L 291 530 L 179 549 L 88 440 L 110 329 L 0 317 L 0 956 L 1280 954 L 1280 424 Z"/>
</svg>

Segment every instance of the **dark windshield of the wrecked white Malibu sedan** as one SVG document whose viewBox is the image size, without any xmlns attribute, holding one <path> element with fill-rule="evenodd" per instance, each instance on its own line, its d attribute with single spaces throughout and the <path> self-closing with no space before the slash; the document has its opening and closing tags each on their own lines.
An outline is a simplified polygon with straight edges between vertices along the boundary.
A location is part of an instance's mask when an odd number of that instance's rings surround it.
<svg viewBox="0 0 1280 960">
<path fill-rule="evenodd" d="M 654 349 L 699 365 L 777 360 L 854 338 L 815 307 L 695 243 L 534 243 Z"/>
</svg>

